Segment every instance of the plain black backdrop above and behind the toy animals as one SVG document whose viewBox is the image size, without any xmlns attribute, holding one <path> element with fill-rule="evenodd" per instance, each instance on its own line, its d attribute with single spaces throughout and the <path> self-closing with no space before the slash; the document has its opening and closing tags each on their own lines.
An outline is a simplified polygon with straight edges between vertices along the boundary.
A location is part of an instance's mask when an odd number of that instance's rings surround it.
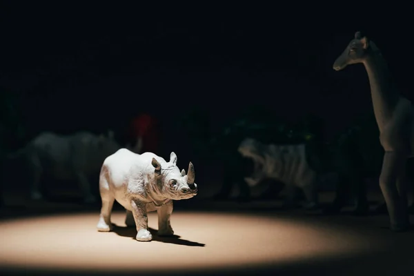
<svg viewBox="0 0 414 276">
<path fill-rule="evenodd" d="M 317 115 L 333 135 L 372 110 L 364 67 L 332 69 L 357 30 L 413 99 L 403 6 L 114 3 L 1 1 L 0 85 L 21 96 L 26 128 L 13 147 L 45 130 L 110 128 L 120 137 L 133 116 L 149 112 L 161 123 L 159 155 L 187 159 L 188 137 L 177 128 L 186 112 L 208 112 L 215 132 L 254 104 L 287 121 Z"/>
</svg>

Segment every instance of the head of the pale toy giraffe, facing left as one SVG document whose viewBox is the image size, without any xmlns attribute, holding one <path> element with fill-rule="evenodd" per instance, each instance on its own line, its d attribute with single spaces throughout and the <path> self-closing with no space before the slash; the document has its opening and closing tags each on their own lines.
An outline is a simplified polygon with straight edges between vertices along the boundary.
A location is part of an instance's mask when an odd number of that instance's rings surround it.
<svg viewBox="0 0 414 276">
<path fill-rule="evenodd" d="M 355 32 L 354 39 L 348 43 L 344 52 L 333 63 L 333 69 L 339 71 L 349 64 L 362 63 L 366 58 L 368 48 L 368 38 L 362 35 L 361 32 Z"/>
</svg>

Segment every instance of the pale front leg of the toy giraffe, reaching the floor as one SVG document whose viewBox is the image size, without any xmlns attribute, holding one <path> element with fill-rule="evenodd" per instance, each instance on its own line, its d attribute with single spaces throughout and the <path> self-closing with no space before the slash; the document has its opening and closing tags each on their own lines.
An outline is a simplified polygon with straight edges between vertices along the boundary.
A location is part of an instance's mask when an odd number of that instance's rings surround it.
<svg viewBox="0 0 414 276">
<path fill-rule="evenodd" d="M 408 210 L 406 208 L 406 190 L 397 189 L 397 178 L 400 177 L 406 156 L 400 152 L 385 152 L 380 175 L 380 188 L 390 216 L 391 230 L 408 229 Z M 401 194 L 400 194 L 401 193 Z"/>
</svg>

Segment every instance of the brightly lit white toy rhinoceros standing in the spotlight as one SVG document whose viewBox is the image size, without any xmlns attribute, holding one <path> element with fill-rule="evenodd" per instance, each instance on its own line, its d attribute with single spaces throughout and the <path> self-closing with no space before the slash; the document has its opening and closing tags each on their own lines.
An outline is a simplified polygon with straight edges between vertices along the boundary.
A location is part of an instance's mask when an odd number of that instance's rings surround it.
<svg viewBox="0 0 414 276">
<path fill-rule="evenodd" d="M 102 208 L 97 229 L 112 230 L 110 221 L 115 199 L 126 208 L 126 225 L 136 226 L 137 241 L 152 239 L 148 230 L 147 213 L 157 210 L 158 235 L 173 235 L 170 216 L 172 200 L 190 199 L 197 195 L 194 166 L 188 165 L 188 175 L 177 167 L 177 155 L 170 161 L 152 152 L 139 155 L 122 148 L 103 161 L 99 177 Z"/>
</svg>

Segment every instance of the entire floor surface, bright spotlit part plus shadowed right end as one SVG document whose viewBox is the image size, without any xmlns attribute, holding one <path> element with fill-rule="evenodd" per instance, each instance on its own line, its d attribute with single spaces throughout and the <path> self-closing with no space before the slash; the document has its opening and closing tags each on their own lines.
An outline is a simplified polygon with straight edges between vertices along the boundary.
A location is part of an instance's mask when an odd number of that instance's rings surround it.
<svg viewBox="0 0 414 276">
<path fill-rule="evenodd" d="M 42 270 L 51 275 L 182 275 L 184 270 L 192 275 L 265 271 L 272 275 L 405 275 L 400 273 L 410 267 L 414 248 L 414 233 L 391 233 L 384 228 L 386 216 L 177 210 L 172 227 L 180 237 L 160 238 L 154 230 L 152 242 L 137 242 L 136 230 L 124 224 L 124 212 L 112 215 L 118 226 L 112 233 L 97 232 L 98 215 L 1 221 L 0 266 L 9 273 Z M 148 216 L 153 229 L 157 229 L 156 215 Z M 412 275 L 412 270 L 407 273 Z"/>
</svg>

